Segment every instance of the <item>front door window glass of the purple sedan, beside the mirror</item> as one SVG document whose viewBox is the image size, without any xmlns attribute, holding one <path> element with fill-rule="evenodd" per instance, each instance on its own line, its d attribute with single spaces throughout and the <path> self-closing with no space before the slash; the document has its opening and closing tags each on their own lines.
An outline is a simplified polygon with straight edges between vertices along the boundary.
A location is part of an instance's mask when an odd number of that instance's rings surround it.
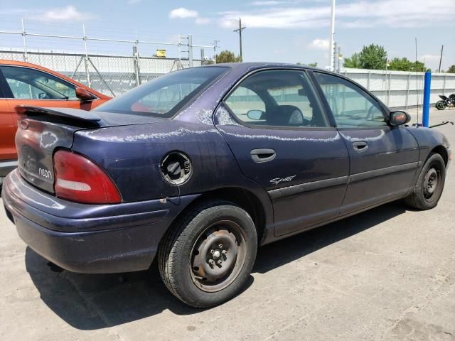
<svg viewBox="0 0 455 341">
<path fill-rule="evenodd" d="M 378 102 L 360 87 L 341 77 L 314 72 L 336 125 L 343 127 L 387 126 Z"/>
</svg>

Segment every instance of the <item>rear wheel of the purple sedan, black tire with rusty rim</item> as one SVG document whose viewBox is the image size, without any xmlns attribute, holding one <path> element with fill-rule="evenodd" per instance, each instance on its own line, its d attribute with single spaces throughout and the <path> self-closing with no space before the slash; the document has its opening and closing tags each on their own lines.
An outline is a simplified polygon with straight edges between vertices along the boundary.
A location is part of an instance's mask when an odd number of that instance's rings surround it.
<svg viewBox="0 0 455 341">
<path fill-rule="evenodd" d="M 211 201 L 188 212 L 166 233 L 159 247 L 159 272 L 174 296 L 208 308 L 242 290 L 256 253 L 250 215 L 232 202 Z"/>
</svg>

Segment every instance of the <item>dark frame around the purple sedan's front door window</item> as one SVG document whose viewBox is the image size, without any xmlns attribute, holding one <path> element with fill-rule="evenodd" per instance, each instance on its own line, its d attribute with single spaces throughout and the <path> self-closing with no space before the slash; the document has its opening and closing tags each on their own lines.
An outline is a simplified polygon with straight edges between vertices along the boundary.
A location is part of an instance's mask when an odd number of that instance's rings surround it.
<svg viewBox="0 0 455 341">
<path fill-rule="evenodd" d="M 362 85 L 354 82 L 353 80 L 350 80 L 348 77 L 344 77 L 343 75 L 336 75 L 336 74 L 333 74 L 333 72 L 326 72 L 324 70 L 311 70 L 311 72 L 308 72 L 308 73 L 309 73 L 310 77 L 312 78 L 312 80 L 314 82 L 314 86 L 316 87 L 316 91 L 319 92 L 320 97 L 322 97 L 321 100 L 323 102 L 324 108 L 326 109 L 326 112 L 328 112 L 330 114 L 330 117 L 331 117 L 331 119 L 333 119 L 333 123 L 335 124 L 337 130 L 346 131 L 346 130 L 392 129 L 392 127 L 389 124 L 389 121 L 390 121 L 390 109 L 387 108 L 387 106 L 385 106 L 385 104 L 382 103 L 381 100 L 378 99 L 378 97 L 376 97 L 374 94 L 370 93 L 367 89 L 365 89 L 365 87 L 363 87 Z M 372 99 L 374 102 L 378 103 L 378 107 L 379 107 L 380 111 L 382 112 L 382 115 L 384 115 L 384 118 L 386 119 L 386 125 L 385 126 L 338 126 L 338 124 L 336 124 L 335 115 L 332 112 L 330 104 L 328 104 L 326 94 L 324 94 L 324 92 L 322 90 L 322 87 L 319 84 L 319 82 L 318 82 L 318 80 L 316 78 L 316 75 L 314 75 L 314 73 L 321 73 L 323 75 L 329 75 L 329 76 L 333 76 L 333 77 L 338 77 L 341 80 L 346 80 L 351 85 L 353 85 L 353 87 L 356 87 L 358 90 L 360 90 L 360 92 L 363 95 L 365 95 L 365 97 L 370 97 L 370 99 Z"/>
</svg>

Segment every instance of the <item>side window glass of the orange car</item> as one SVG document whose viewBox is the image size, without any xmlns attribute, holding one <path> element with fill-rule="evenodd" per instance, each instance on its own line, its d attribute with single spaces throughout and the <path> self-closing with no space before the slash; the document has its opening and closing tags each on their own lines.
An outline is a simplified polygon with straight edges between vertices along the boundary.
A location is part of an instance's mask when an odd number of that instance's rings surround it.
<svg viewBox="0 0 455 341">
<path fill-rule="evenodd" d="M 77 99 L 75 86 L 46 72 L 28 67 L 0 67 L 17 99 Z"/>
</svg>

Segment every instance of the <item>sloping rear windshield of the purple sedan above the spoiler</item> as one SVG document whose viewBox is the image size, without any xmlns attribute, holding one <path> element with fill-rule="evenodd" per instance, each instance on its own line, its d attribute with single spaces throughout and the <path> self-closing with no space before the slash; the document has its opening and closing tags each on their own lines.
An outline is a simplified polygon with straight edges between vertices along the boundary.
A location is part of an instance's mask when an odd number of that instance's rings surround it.
<svg viewBox="0 0 455 341">
<path fill-rule="evenodd" d="M 172 117 L 227 70 L 228 67 L 194 67 L 171 72 L 109 100 L 95 111 Z"/>
</svg>

